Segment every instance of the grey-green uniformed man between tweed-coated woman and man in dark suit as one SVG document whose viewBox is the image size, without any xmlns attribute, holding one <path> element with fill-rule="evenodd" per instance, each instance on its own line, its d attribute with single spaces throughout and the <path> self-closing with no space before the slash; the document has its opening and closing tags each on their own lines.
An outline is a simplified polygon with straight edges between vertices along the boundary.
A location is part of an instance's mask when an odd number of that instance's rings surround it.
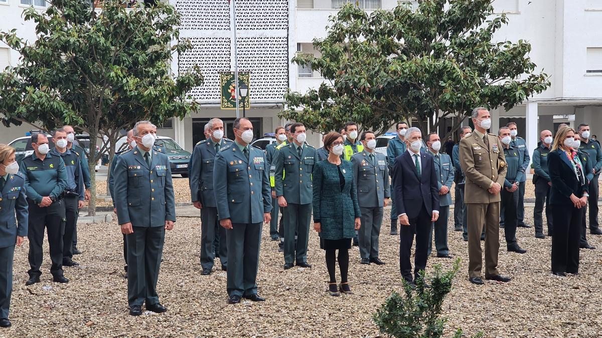
<svg viewBox="0 0 602 338">
<path fill-rule="evenodd" d="M 389 204 L 391 185 L 385 155 L 374 152 L 376 136 L 372 131 L 362 133 L 361 153 L 351 156 L 362 226 L 358 230 L 361 264 L 384 265 L 379 258 L 379 236 L 383 208 Z"/>
</svg>

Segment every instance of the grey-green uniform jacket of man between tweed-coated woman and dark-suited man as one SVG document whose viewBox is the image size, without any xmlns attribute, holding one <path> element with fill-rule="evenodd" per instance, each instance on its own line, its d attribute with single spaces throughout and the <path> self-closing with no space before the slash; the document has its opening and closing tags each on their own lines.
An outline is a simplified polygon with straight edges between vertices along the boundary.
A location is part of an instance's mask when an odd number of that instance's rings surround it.
<svg viewBox="0 0 602 338">
<path fill-rule="evenodd" d="M 382 207 L 385 198 L 391 198 L 389 168 L 385 155 L 373 152 L 374 162 L 366 150 L 352 156 L 353 181 L 361 207 Z"/>
</svg>

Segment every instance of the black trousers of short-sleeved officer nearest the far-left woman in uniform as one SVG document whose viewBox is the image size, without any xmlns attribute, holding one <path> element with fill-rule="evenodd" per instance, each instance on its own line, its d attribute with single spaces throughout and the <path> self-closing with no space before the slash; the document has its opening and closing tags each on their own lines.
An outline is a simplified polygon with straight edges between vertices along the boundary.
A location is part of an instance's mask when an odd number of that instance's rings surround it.
<svg viewBox="0 0 602 338">
<path fill-rule="evenodd" d="M 42 244 L 44 241 L 44 229 L 48 232 L 48 246 L 50 247 L 50 259 L 52 265 L 50 272 L 54 277 L 63 275 L 63 235 L 65 232 L 65 204 L 63 200 L 56 201 L 47 207 L 39 207 L 33 200 L 29 203 L 29 227 L 27 238 L 29 239 L 30 269 L 29 277 L 42 275 Z"/>
</svg>

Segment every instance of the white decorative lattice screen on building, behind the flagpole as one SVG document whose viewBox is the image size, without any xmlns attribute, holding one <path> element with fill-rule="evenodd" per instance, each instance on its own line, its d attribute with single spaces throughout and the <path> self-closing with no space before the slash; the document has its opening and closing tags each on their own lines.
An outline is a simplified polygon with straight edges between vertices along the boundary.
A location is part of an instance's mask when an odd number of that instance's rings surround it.
<svg viewBox="0 0 602 338">
<path fill-rule="evenodd" d="M 288 0 L 237 0 L 238 70 L 250 73 L 251 102 L 280 102 L 288 88 Z M 194 49 L 179 68 L 199 64 L 205 84 L 191 91 L 203 103 L 220 101 L 219 73 L 234 70 L 230 7 L 226 0 L 176 0 L 181 37 Z M 232 52 L 231 52 L 232 51 Z"/>
</svg>

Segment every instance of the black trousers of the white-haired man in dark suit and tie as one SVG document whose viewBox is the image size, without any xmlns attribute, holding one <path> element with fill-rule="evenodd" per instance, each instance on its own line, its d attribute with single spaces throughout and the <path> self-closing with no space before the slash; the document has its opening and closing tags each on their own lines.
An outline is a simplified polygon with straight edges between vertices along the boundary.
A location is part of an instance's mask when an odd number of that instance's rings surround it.
<svg viewBox="0 0 602 338">
<path fill-rule="evenodd" d="M 407 281 L 418 278 L 418 271 L 426 268 L 426 251 L 429 247 L 431 216 L 423 206 L 416 218 L 409 219 L 409 226 L 400 225 L 399 269 L 402 272 L 403 279 Z M 414 234 L 416 235 L 416 251 L 414 255 L 414 278 L 412 278 L 410 256 Z"/>
</svg>

